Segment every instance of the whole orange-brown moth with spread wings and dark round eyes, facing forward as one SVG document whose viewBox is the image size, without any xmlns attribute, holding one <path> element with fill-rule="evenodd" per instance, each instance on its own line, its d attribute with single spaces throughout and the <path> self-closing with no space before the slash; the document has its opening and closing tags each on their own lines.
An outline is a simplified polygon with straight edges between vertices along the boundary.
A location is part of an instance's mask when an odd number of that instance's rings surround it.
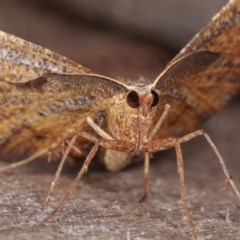
<svg viewBox="0 0 240 240">
<path fill-rule="evenodd" d="M 5 32 L 0 32 L 0 151 L 3 157 L 33 161 L 67 147 L 66 159 L 84 164 L 55 211 L 65 202 L 97 152 L 108 170 L 119 171 L 144 158 L 148 192 L 150 154 L 175 148 L 185 212 L 196 238 L 184 188 L 181 143 L 203 135 L 227 181 L 240 194 L 210 137 L 198 126 L 240 90 L 240 1 L 231 0 L 155 80 L 120 80 L 89 69 Z M 54 211 L 54 212 L 55 212 Z"/>
</svg>

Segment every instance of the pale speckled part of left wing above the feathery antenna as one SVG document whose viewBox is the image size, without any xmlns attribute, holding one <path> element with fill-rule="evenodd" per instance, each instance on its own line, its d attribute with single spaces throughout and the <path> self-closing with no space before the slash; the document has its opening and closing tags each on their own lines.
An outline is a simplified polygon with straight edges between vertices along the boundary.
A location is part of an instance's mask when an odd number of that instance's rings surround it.
<svg viewBox="0 0 240 240">
<path fill-rule="evenodd" d="M 0 31 L 0 84 L 38 78 L 45 73 L 89 73 L 80 64 L 46 48 Z"/>
</svg>

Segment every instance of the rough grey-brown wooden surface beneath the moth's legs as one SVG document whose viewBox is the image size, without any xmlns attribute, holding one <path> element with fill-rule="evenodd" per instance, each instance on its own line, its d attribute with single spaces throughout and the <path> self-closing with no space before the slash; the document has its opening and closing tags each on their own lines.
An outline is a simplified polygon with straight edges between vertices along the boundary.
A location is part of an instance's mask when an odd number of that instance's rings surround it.
<svg viewBox="0 0 240 240">
<path fill-rule="evenodd" d="M 230 172 L 239 179 L 239 101 L 207 125 Z M 199 239 L 238 239 L 239 202 L 224 180 L 219 163 L 204 140 L 183 146 L 186 187 Z M 47 166 L 45 165 L 45 168 Z M 47 223 L 51 209 L 42 209 L 54 171 L 26 166 L 1 174 L 1 239 L 190 239 L 179 195 L 174 154 L 162 154 L 151 164 L 150 195 L 142 193 L 142 166 L 120 173 L 90 170 L 64 207 Z M 65 173 L 55 190 L 56 206 L 73 175 Z M 130 236 L 130 238 L 127 238 Z"/>
</svg>

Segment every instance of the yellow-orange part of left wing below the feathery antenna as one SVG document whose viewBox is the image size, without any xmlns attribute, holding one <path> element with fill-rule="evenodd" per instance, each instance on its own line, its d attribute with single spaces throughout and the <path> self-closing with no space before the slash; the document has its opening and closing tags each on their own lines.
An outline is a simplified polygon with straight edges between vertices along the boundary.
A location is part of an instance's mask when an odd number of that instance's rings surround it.
<svg viewBox="0 0 240 240">
<path fill-rule="evenodd" d="M 14 88 L 14 87 L 11 87 Z M 26 91 L 26 89 L 0 94 L 1 154 L 28 155 L 50 147 L 69 131 L 69 137 L 88 130 L 86 117 L 99 115 L 94 99 L 73 96 L 69 92 Z M 78 128 L 70 129 L 78 122 Z M 65 139 L 66 140 L 66 139 Z"/>
</svg>

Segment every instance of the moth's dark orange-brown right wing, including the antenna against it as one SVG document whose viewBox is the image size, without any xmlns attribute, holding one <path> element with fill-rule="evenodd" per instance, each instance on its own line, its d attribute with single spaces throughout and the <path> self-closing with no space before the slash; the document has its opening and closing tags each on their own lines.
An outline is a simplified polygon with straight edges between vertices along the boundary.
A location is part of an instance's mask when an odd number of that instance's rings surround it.
<svg viewBox="0 0 240 240">
<path fill-rule="evenodd" d="M 193 131 L 240 90 L 240 1 L 226 5 L 155 80 L 162 111 L 160 137 Z"/>
</svg>

